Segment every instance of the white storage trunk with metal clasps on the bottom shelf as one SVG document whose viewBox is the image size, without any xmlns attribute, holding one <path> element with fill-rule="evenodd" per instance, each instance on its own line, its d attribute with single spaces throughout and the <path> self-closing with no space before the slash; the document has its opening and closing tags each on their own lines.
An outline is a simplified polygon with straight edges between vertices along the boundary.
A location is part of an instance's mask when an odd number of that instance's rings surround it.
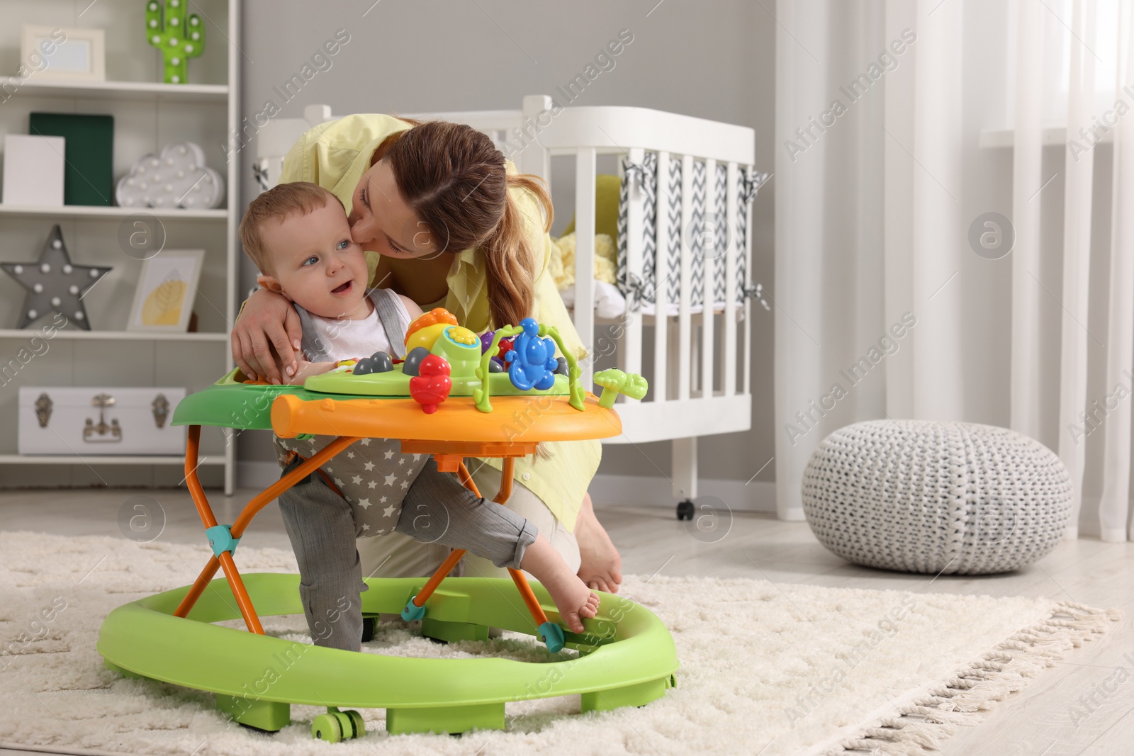
<svg viewBox="0 0 1134 756">
<path fill-rule="evenodd" d="M 22 455 L 184 455 L 184 388 L 20 387 Z"/>
</svg>

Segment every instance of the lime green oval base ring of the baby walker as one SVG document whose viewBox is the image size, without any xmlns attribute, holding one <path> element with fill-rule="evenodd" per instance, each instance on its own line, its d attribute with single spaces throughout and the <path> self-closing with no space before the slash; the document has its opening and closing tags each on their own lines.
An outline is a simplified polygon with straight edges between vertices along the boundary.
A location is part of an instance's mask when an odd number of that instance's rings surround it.
<svg viewBox="0 0 1134 756">
<path fill-rule="evenodd" d="M 244 575 L 260 617 L 303 614 L 299 576 Z M 421 591 L 420 578 L 367 579 L 365 614 L 395 614 Z M 424 632 L 439 640 L 483 640 L 489 627 L 535 635 L 523 598 L 506 578 L 448 578 L 426 602 Z M 560 620 L 538 583 L 536 598 L 551 621 Z M 108 669 L 217 694 L 217 706 L 243 725 L 268 732 L 290 723 L 290 705 L 327 707 L 315 717 L 329 741 L 361 733 L 362 719 L 347 708 L 384 708 L 392 733 L 502 730 L 505 703 L 579 695 L 582 708 L 643 706 L 674 685 L 677 652 L 665 625 L 650 610 L 603 594 L 599 615 L 585 631 L 567 632 L 577 656 L 544 663 L 500 657 L 409 659 L 311 646 L 214 625 L 239 619 L 228 580 L 209 584 L 185 619 L 174 617 L 188 586 L 122 604 L 99 630 L 98 651 Z M 330 723 L 333 724 L 333 723 Z M 324 733 L 324 729 L 327 732 Z"/>
</svg>

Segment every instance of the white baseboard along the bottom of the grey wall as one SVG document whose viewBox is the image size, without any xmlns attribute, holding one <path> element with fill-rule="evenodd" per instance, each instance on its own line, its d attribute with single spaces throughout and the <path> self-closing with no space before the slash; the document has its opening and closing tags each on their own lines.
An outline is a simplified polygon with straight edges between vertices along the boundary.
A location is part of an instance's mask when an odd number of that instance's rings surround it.
<svg viewBox="0 0 1134 756">
<path fill-rule="evenodd" d="M 266 489 L 279 479 L 277 462 L 237 462 L 236 485 L 242 489 Z M 738 511 L 775 512 L 776 484 L 763 481 L 702 478 L 697 482 L 702 496 L 716 496 Z M 646 504 L 674 507 L 669 481 L 651 475 L 595 475 L 591 498 L 598 504 Z"/>
</svg>

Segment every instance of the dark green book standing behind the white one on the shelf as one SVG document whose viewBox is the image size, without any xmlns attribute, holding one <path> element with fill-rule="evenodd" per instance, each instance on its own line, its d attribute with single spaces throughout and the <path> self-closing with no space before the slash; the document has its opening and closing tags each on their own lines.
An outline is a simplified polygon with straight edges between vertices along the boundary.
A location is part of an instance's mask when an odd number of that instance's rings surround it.
<svg viewBox="0 0 1134 756">
<path fill-rule="evenodd" d="M 28 134 L 61 136 L 64 204 L 111 205 L 115 196 L 115 117 L 32 113 Z"/>
</svg>

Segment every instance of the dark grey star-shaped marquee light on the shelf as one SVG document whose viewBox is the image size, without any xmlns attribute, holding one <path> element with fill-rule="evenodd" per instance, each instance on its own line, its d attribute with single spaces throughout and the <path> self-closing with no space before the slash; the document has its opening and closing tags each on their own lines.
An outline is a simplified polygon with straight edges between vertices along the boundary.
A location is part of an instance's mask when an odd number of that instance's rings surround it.
<svg viewBox="0 0 1134 756">
<path fill-rule="evenodd" d="M 71 264 L 58 224 L 51 228 L 39 262 L 0 263 L 0 267 L 27 289 L 17 328 L 27 328 L 49 313 L 59 313 L 85 331 L 91 330 L 91 323 L 83 296 L 112 270 L 104 265 Z"/>
</svg>

